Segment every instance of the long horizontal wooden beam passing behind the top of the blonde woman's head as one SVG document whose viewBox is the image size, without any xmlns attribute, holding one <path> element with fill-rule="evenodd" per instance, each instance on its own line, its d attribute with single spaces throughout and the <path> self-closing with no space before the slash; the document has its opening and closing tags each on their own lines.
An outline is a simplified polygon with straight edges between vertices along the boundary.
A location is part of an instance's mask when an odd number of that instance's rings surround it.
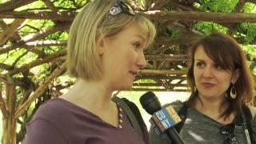
<svg viewBox="0 0 256 144">
<path fill-rule="evenodd" d="M 161 11 L 149 10 L 138 12 L 146 14 L 154 20 L 183 20 L 183 21 L 206 21 L 206 22 L 256 22 L 255 14 L 246 13 L 214 13 L 198 11 Z M 50 19 L 58 21 L 73 21 L 77 12 L 59 12 L 50 11 L 12 11 L 0 14 L 0 18 L 26 18 L 26 19 Z"/>
</svg>

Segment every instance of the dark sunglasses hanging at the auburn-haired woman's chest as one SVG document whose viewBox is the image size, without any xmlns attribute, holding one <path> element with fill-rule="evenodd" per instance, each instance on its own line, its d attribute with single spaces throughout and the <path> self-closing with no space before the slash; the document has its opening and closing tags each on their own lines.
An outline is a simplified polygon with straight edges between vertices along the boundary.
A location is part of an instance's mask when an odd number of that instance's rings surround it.
<svg viewBox="0 0 256 144">
<path fill-rule="evenodd" d="M 223 144 L 238 144 L 238 139 L 234 135 L 234 123 L 222 126 L 220 133 L 225 135 Z"/>
</svg>

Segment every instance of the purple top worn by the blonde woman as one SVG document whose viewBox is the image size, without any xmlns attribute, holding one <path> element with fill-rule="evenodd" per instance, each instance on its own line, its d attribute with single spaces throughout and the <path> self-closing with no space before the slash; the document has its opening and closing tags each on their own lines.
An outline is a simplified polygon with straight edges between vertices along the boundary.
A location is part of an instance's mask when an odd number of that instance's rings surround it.
<svg viewBox="0 0 256 144">
<path fill-rule="evenodd" d="M 62 98 L 39 107 L 22 144 L 145 144 L 122 110 L 122 128 Z"/>
</svg>

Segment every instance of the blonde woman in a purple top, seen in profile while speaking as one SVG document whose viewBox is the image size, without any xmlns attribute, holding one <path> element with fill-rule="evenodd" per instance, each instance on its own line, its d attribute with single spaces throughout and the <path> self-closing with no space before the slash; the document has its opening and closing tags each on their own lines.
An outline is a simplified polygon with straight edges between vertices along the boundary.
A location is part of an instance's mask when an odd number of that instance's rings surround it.
<svg viewBox="0 0 256 144">
<path fill-rule="evenodd" d="M 148 143 L 146 128 L 143 140 L 111 96 L 132 87 L 154 35 L 154 25 L 126 2 L 87 4 L 74 19 L 67 46 L 67 69 L 77 81 L 40 106 L 23 144 Z"/>
</svg>

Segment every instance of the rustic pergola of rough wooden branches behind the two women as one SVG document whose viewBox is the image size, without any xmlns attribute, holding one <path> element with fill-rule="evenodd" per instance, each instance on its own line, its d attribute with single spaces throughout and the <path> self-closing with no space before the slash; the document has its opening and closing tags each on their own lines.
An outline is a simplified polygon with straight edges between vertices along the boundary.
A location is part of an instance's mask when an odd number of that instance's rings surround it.
<svg viewBox="0 0 256 144">
<path fill-rule="evenodd" d="M 72 86 L 73 81 L 56 82 L 65 75 L 66 37 L 78 10 L 87 1 L 74 0 L 11 0 L 0 1 L 0 109 L 3 115 L 3 144 L 21 142 L 24 126 L 37 107 L 49 98 L 58 97 L 61 90 Z M 243 7 L 255 0 L 239 0 L 229 12 L 202 10 L 199 0 L 156 0 L 141 4 L 129 0 L 138 13 L 146 14 L 158 30 L 154 45 L 146 51 L 148 65 L 141 70 L 132 90 L 187 91 L 186 67 L 191 42 L 205 31 L 198 23 L 211 22 L 224 27 L 230 35 L 238 35 L 241 44 L 254 46 L 243 37 L 249 30 L 242 25 L 256 23 L 256 14 L 245 13 Z M 198 6 L 199 5 L 199 6 Z M 33 26 L 32 23 L 42 23 Z M 256 25 L 254 26 L 256 30 Z M 256 32 L 256 31 L 255 31 Z M 57 35 L 57 36 L 56 36 Z M 26 62 L 22 58 L 33 55 Z M 15 57 L 14 57 L 15 56 Z M 256 66 L 256 57 L 250 59 L 250 69 Z M 8 58 L 14 58 L 9 61 Z M 49 70 L 35 72 L 45 66 Z M 37 78 L 37 79 L 35 79 Z M 41 79 L 40 79 L 41 78 Z M 40 79 L 40 80 L 38 80 Z M 34 109 L 30 106 L 34 103 Z M 16 132 L 17 125 L 21 130 Z"/>
</svg>

